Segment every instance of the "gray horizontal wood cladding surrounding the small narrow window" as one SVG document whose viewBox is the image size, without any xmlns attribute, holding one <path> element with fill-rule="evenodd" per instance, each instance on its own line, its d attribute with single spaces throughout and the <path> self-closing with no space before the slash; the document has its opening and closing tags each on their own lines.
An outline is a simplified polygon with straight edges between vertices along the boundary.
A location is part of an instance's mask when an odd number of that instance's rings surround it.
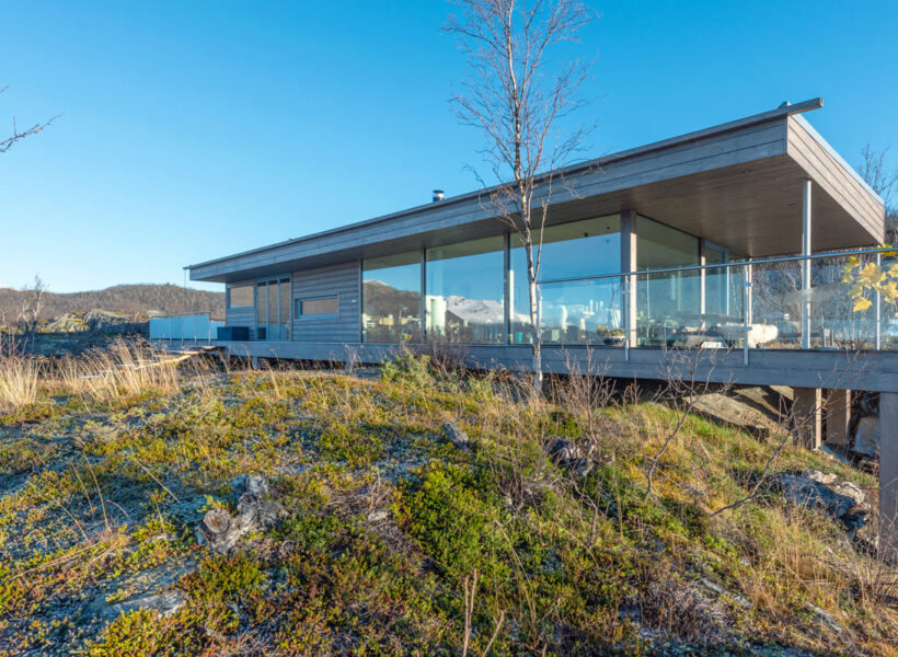
<svg viewBox="0 0 898 657">
<path fill-rule="evenodd" d="M 293 272 L 293 332 L 299 342 L 359 342 L 361 339 L 359 261 Z M 297 300 L 337 296 L 336 318 L 297 316 Z"/>
</svg>

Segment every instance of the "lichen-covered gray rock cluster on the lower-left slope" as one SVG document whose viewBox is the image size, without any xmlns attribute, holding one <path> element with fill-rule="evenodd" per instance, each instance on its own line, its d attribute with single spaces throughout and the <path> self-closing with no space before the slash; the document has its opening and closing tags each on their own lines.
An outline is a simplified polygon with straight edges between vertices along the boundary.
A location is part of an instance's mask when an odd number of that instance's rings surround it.
<svg viewBox="0 0 898 657">
<path fill-rule="evenodd" d="M 284 508 L 268 498 L 264 477 L 241 474 L 231 482 L 231 493 L 238 499 L 237 515 L 225 508 L 206 511 L 196 528 L 196 540 L 215 552 L 230 552 L 245 534 L 273 527 L 284 515 Z"/>
</svg>

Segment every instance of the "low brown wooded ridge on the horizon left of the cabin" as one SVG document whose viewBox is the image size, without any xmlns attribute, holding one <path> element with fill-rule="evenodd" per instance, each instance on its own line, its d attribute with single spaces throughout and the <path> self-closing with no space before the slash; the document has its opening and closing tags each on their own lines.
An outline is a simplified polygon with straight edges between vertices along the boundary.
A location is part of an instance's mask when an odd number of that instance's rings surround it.
<svg viewBox="0 0 898 657">
<path fill-rule="evenodd" d="M 23 303 L 33 298 L 32 290 L 0 286 L 0 324 L 20 319 Z M 225 316 L 225 292 L 183 288 L 172 284 L 115 285 L 84 292 L 45 291 L 39 320 L 51 320 L 67 313 L 84 313 L 102 309 L 135 319 L 151 312 L 192 312 L 208 310 L 215 318 Z"/>
</svg>

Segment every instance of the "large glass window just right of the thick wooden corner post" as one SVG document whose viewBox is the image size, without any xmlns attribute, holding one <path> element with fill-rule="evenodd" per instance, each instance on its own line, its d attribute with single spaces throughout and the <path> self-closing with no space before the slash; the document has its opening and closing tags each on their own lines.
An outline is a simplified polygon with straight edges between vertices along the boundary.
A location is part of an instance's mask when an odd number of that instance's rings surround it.
<svg viewBox="0 0 898 657">
<path fill-rule="evenodd" d="M 640 217 L 636 223 L 638 269 L 664 269 L 699 264 L 699 239 Z M 668 272 L 637 277 L 640 344 L 659 345 L 702 330 L 701 273 Z"/>
</svg>

